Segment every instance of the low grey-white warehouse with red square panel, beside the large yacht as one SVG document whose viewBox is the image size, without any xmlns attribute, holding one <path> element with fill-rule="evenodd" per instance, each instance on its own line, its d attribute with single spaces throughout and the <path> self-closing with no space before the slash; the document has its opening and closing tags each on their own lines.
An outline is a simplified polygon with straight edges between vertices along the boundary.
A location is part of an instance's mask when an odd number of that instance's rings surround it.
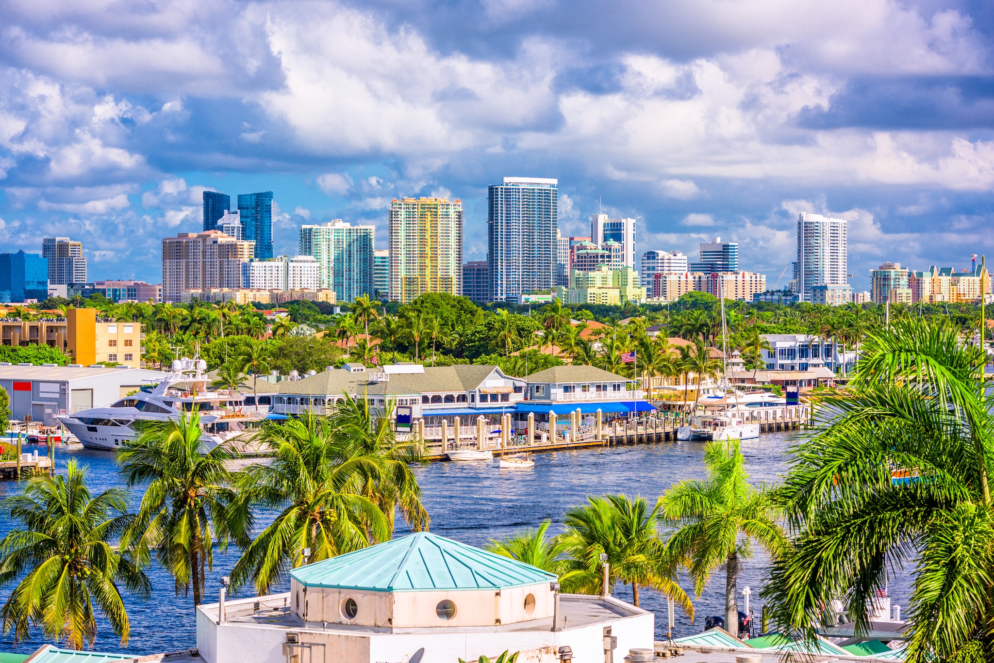
<svg viewBox="0 0 994 663">
<path fill-rule="evenodd" d="M 59 425 L 60 414 L 108 408 L 128 392 L 163 378 L 164 373 L 140 368 L 0 364 L 0 387 L 10 395 L 11 418 L 31 417 L 45 425 Z"/>
</svg>

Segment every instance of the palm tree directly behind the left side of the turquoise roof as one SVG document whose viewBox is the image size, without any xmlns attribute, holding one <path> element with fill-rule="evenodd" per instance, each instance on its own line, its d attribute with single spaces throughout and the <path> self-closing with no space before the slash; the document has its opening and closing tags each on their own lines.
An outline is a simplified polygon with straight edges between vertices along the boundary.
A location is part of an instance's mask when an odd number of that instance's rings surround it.
<svg viewBox="0 0 994 663">
<path fill-rule="evenodd" d="M 239 473 L 239 530 L 251 531 L 254 506 L 281 511 L 244 548 L 232 571 L 234 587 L 254 582 L 263 594 L 290 569 L 365 548 L 371 538 L 390 539 L 387 516 L 357 485 L 361 472 L 379 476 L 377 458 L 335 462 L 334 435 L 331 419 L 309 411 L 279 425 L 262 423 L 257 439 L 275 455 Z"/>
</svg>

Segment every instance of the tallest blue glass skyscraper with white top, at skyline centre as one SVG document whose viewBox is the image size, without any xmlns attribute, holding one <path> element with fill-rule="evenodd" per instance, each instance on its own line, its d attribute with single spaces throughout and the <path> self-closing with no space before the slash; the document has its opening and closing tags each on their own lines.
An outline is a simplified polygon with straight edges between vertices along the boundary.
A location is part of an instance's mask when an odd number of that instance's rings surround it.
<svg viewBox="0 0 994 663">
<path fill-rule="evenodd" d="M 558 186 L 555 179 L 505 177 L 490 186 L 487 260 L 493 301 L 556 286 Z"/>
</svg>

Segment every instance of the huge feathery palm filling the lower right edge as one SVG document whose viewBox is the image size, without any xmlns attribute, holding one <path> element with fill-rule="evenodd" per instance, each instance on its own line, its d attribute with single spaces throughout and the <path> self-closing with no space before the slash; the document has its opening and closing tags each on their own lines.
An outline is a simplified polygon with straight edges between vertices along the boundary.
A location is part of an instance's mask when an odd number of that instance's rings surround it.
<svg viewBox="0 0 994 663">
<path fill-rule="evenodd" d="M 892 320 L 870 336 L 850 389 L 791 449 L 778 492 L 794 544 L 765 590 L 780 624 L 810 634 L 818 606 L 842 597 L 869 629 L 866 601 L 904 568 L 915 574 L 908 661 L 951 660 L 974 640 L 994 656 L 985 361 L 943 322 Z"/>
</svg>

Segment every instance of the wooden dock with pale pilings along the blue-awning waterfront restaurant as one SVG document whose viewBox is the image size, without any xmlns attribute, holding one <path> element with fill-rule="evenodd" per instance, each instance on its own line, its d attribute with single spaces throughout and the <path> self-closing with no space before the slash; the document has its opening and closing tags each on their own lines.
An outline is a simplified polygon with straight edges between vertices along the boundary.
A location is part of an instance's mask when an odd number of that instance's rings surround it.
<svg viewBox="0 0 994 663">
<path fill-rule="evenodd" d="M 749 413 L 745 417 L 747 423 L 758 423 L 760 432 L 777 432 L 786 430 L 797 430 L 809 423 L 810 409 L 806 406 L 788 408 L 784 416 L 770 416 L 775 413 Z M 509 421 L 510 415 L 506 415 Z M 455 448 L 472 448 L 489 450 L 494 456 L 501 456 L 513 453 L 538 453 L 542 451 L 562 451 L 568 449 L 580 449 L 589 447 L 619 446 L 626 444 L 652 444 L 659 442 L 677 441 L 677 429 L 681 421 L 674 418 L 644 417 L 638 419 L 620 419 L 607 423 L 594 425 L 580 425 L 579 416 L 574 419 L 571 416 L 571 426 L 568 430 L 551 438 L 548 434 L 549 425 L 545 424 L 545 430 L 541 428 L 532 435 L 510 437 L 505 435 L 503 429 L 509 427 L 502 426 L 499 435 L 487 434 L 479 424 L 475 428 L 459 426 L 459 438 L 456 439 L 455 426 L 446 422 L 445 430 L 442 426 L 435 426 L 429 429 L 431 434 L 424 435 L 424 449 L 428 460 L 445 460 L 446 450 Z M 552 425 L 556 424 L 556 417 L 552 417 Z M 540 426 L 543 424 L 540 424 Z M 557 428 L 558 430 L 558 428 Z M 599 432 L 599 434 L 598 434 Z M 435 434 L 437 433 L 437 434 Z M 484 439 L 479 443 L 479 439 Z"/>
</svg>

